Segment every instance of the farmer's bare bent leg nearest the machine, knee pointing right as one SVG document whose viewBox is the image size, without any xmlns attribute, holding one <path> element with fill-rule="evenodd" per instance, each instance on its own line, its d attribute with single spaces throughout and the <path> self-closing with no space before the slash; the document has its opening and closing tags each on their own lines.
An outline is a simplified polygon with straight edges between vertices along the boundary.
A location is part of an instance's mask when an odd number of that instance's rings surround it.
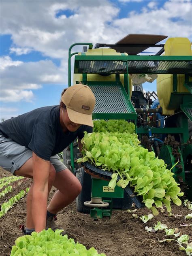
<svg viewBox="0 0 192 256">
<path fill-rule="evenodd" d="M 69 169 L 56 173 L 53 186 L 58 188 L 58 191 L 55 192 L 47 207 L 50 213 L 58 213 L 81 193 L 81 183 Z"/>
</svg>

